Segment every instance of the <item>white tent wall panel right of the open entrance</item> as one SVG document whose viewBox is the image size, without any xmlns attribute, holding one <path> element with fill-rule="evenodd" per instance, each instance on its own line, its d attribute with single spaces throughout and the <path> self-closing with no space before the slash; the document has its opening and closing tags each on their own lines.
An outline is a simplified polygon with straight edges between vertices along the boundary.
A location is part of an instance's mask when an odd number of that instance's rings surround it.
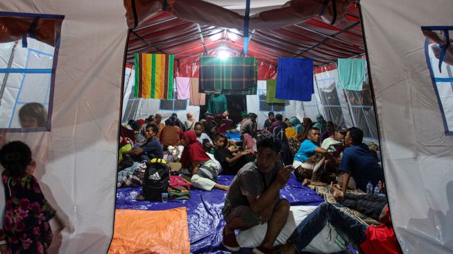
<svg viewBox="0 0 453 254">
<path fill-rule="evenodd" d="M 393 226 L 404 253 L 453 253 L 453 136 L 445 135 L 421 26 L 453 1 L 361 1 Z"/>
</svg>

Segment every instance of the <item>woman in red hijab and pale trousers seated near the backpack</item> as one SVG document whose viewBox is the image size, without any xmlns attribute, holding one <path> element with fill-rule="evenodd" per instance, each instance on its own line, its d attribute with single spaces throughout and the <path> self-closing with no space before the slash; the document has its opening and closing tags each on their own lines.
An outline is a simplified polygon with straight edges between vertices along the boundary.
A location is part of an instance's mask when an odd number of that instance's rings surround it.
<svg viewBox="0 0 453 254">
<path fill-rule="evenodd" d="M 220 164 L 214 162 L 205 153 L 203 146 L 196 139 L 193 130 L 186 131 L 182 135 L 184 150 L 181 155 L 181 164 L 191 172 L 192 186 L 210 191 L 212 189 L 223 189 L 228 191 L 229 187 L 214 182 L 219 176 Z"/>
</svg>

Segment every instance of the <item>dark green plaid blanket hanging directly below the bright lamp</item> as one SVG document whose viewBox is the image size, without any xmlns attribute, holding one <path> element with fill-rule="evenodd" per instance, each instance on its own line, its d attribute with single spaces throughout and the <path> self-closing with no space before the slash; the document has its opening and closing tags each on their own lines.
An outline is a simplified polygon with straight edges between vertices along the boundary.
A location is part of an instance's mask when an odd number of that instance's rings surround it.
<svg viewBox="0 0 453 254">
<path fill-rule="evenodd" d="M 200 56 L 200 92 L 257 94 L 257 58 Z"/>
</svg>

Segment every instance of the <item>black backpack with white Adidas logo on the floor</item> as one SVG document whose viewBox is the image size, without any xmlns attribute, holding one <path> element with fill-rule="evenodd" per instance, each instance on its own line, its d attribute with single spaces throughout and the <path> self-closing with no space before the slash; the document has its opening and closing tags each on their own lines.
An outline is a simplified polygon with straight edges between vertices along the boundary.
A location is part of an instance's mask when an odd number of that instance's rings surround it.
<svg viewBox="0 0 453 254">
<path fill-rule="evenodd" d="M 162 159 L 153 159 L 147 164 L 143 179 L 142 195 L 148 201 L 161 201 L 162 193 L 168 191 L 170 167 Z"/>
</svg>

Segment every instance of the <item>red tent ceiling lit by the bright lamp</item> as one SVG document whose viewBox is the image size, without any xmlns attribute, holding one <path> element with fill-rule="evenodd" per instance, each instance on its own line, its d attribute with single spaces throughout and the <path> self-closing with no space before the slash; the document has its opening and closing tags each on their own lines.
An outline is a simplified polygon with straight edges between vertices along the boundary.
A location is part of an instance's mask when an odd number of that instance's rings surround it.
<svg viewBox="0 0 453 254">
<path fill-rule="evenodd" d="M 330 25 L 321 17 L 277 29 L 249 31 L 247 56 L 277 66 L 277 58 L 313 58 L 315 67 L 365 53 L 359 9 L 352 3 L 345 22 Z M 182 20 L 170 12 L 159 11 L 130 30 L 127 62 L 134 53 L 174 54 L 176 60 L 198 60 L 198 56 L 216 54 L 219 49 L 242 56 L 243 31 L 200 25 Z"/>
</svg>

